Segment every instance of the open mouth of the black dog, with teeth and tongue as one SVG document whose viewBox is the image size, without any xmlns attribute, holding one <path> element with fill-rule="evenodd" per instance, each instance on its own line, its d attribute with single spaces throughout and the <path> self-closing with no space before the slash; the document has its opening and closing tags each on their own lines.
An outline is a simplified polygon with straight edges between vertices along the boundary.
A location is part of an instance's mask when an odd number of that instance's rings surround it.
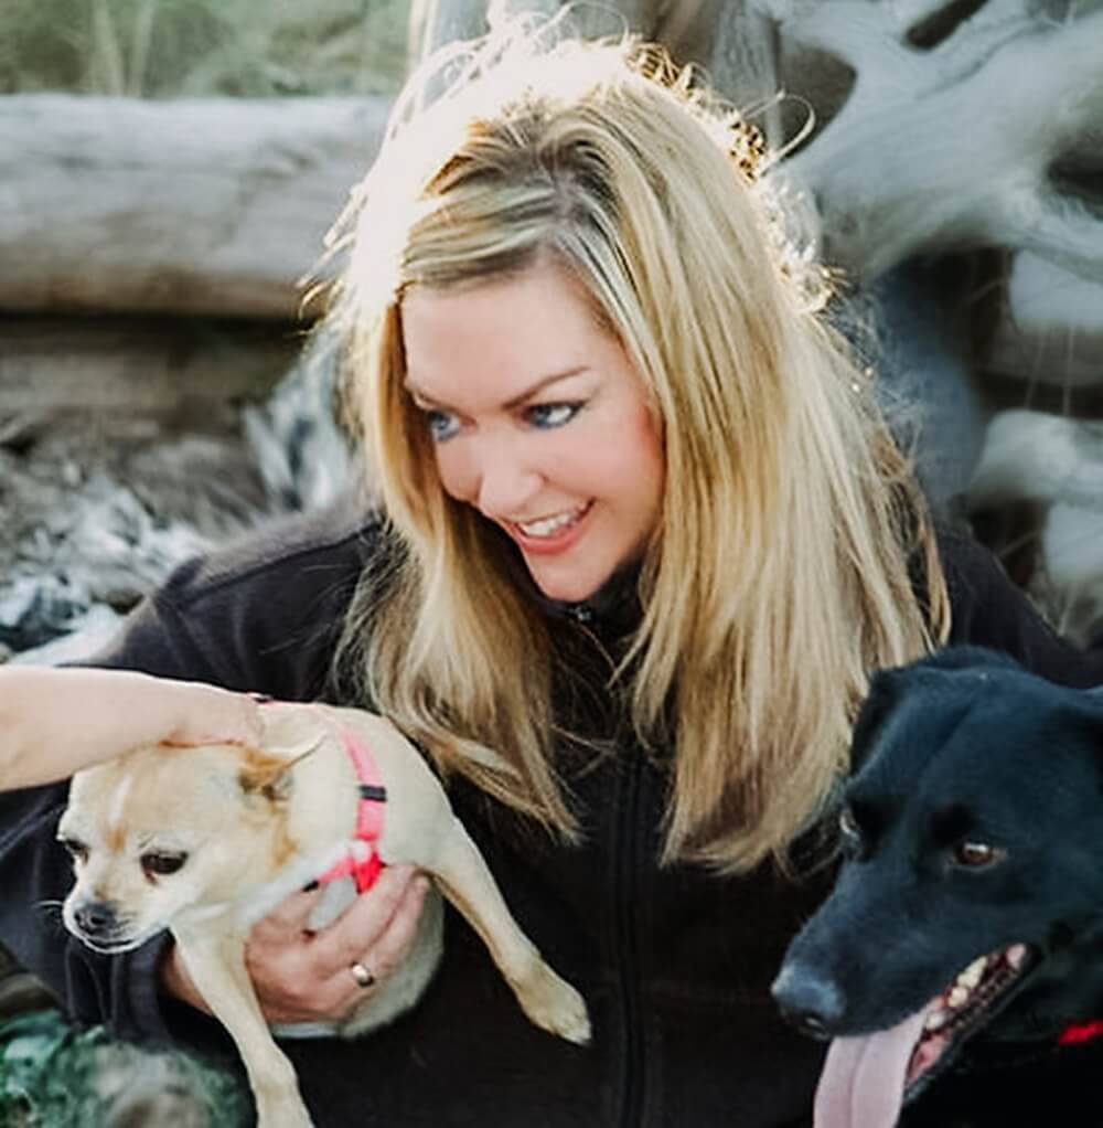
<svg viewBox="0 0 1103 1128">
<path fill-rule="evenodd" d="M 1025 944 L 982 955 L 891 1030 L 836 1038 L 815 1094 L 815 1128 L 892 1128 L 1006 1003 L 1034 960 Z"/>
</svg>

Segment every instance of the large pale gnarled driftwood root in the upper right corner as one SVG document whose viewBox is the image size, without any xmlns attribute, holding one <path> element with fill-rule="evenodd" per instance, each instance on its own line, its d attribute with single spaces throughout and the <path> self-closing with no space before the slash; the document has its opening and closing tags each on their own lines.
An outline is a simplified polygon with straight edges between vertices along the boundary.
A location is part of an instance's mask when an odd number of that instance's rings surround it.
<svg viewBox="0 0 1103 1128">
<path fill-rule="evenodd" d="M 919 51 L 891 3 L 759 3 L 857 74 L 785 166 L 814 194 L 833 262 L 871 276 L 918 253 L 1007 246 L 1103 282 L 1103 219 L 1080 195 L 1098 169 L 1103 11 L 1059 23 L 991 0 Z"/>
</svg>

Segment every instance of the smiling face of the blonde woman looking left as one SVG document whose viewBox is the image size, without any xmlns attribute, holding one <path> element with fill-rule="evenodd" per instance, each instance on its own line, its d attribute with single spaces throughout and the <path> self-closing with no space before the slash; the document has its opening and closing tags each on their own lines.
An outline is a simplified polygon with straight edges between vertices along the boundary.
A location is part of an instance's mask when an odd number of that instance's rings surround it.
<svg viewBox="0 0 1103 1128">
<path fill-rule="evenodd" d="M 414 288 L 403 333 L 444 490 L 513 538 L 545 594 L 586 599 L 641 555 L 662 502 L 661 426 L 562 270 Z"/>
</svg>

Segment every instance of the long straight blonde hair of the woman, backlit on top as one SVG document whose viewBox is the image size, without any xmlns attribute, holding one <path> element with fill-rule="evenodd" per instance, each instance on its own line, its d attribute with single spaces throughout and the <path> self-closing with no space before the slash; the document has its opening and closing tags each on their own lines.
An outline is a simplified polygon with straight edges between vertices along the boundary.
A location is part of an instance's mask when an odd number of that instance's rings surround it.
<svg viewBox="0 0 1103 1128">
<path fill-rule="evenodd" d="M 818 316 L 822 274 L 785 250 L 757 133 L 654 46 L 519 50 L 474 49 L 392 130 L 347 217 L 334 317 L 402 558 L 365 581 L 345 656 L 441 769 L 573 831 L 546 627 L 488 523 L 444 494 L 402 338 L 409 287 L 550 259 L 627 350 L 664 432 L 618 673 L 645 740 L 669 735 L 676 706 L 663 858 L 784 858 L 845 770 L 867 671 L 948 628 L 924 505 Z"/>
</svg>

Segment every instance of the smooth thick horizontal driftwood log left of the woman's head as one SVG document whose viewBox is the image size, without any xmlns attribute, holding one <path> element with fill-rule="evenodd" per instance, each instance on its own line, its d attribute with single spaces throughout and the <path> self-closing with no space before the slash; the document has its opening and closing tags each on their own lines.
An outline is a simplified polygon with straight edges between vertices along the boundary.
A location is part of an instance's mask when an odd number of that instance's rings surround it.
<svg viewBox="0 0 1103 1128">
<path fill-rule="evenodd" d="M 0 309 L 292 318 L 382 98 L 0 98 Z"/>
</svg>

